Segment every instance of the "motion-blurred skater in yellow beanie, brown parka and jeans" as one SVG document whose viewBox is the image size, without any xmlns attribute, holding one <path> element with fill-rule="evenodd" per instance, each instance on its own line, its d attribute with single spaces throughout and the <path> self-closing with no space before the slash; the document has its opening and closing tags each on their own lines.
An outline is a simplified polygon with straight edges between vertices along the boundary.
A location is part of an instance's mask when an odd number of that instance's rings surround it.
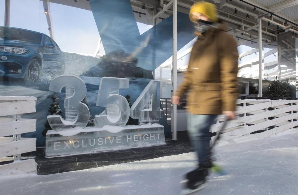
<svg viewBox="0 0 298 195">
<path fill-rule="evenodd" d="M 188 91 L 188 135 L 197 152 L 198 168 L 186 174 L 187 183 L 182 194 L 203 187 L 208 169 L 213 166 L 209 128 L 218 114 L 225 114 L 228 120 L 235 118 L 238 95 L 237 44 L 225 32 L 224 24 L 218 21 L 216 6 L 208 2 L 195 3 L 189 17 L 198 39 L 192 47 L 184 81 L 172 97 L 172 104 L 179 104 Z"/>
</svg>

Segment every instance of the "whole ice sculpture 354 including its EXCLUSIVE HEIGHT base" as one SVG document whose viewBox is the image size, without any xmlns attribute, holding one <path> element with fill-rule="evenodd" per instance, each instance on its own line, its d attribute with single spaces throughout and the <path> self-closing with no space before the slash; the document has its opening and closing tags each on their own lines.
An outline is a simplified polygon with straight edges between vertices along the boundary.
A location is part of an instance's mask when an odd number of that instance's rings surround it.
<svg viewBox="0 0 298 195">
<path fill-rule="evenodd" d="M 119 95 L 119 89 L 128 88 L 128 82 L 126 78 L 101 78 L 96 106 L 106 109 L 95 115 L 96 127 L 86 127 L 90 112 L 81 102 L 87 92 L 84 81 L 70 75 L 54 78 L 49 86 L 51 91 L 61 92 L 65 87 L 65 119 L 61 115 L 47 117 L 53 130 L 46 134 L 46 156 L 165 144 L 164 128 L 159 124 L 159 81 L 150 81 L 131 108 Z M 139 119 L 139 125 L 125 126 L 129 116 Z"/>
</svg>

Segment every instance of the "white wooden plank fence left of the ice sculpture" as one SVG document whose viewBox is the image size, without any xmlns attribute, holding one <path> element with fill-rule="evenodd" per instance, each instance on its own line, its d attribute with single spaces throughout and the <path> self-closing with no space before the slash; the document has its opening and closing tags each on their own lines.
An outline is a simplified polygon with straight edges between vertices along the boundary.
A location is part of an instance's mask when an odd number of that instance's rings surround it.
<svg viewBox="0 0 298 195">
<path fill-rule="evenodd" d="M 21 114 L 36 112 L 36 100 L 36 97 L 0 96 L 0 162 L 14 161 L 0 165 L 0 176 L 36 173 L 35 160 L 21 156 L 36 150 L 36 138 L 21 138 L 21 133 L 36 131 L 36 119 L 21 118 Z M 10 135 L 13 137 L 4 137 Z"/>
</svg>

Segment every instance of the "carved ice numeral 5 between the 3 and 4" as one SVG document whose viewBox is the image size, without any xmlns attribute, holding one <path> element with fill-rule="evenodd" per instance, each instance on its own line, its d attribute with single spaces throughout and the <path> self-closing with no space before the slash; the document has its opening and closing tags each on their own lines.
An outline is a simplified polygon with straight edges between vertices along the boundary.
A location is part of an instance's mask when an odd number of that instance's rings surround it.
<svg viewBox="0 0 298 195">
<path fill-rule="evenodd" d="M 127 89 L 128 83 L 126 78 L 101 78 L 96 106 L 106 107 L 106 110 L 95 115 L 97 127 L 126 125 L 130 114 L 129 104 L 126 98 L 119 95 L 119 89 Z"/>
</svg>

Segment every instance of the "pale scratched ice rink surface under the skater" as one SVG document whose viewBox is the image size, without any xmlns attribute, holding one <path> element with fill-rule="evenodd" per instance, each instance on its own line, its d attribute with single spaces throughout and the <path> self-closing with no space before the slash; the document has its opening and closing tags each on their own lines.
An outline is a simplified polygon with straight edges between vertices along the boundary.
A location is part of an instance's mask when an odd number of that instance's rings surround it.
<svg viewBox="0 0 298 195">
<path fill-rule="evenodd" d="M 217 146 L 225 176 L 209 175 L 202 195 L 297 195 L 298 130 Z M 195 168 L 186 153 L 46 176 L 0 177 L 3 195 L 178 195 L 183 175 Z"/>
</svg>

